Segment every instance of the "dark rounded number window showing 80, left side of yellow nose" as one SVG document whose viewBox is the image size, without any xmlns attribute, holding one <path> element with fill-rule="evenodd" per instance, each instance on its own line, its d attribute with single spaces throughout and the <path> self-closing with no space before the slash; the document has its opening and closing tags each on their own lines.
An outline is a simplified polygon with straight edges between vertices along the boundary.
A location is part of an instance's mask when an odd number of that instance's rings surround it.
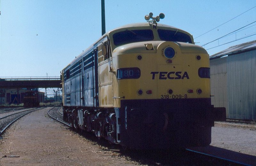
<svg viewBox="0 0 256 166">
<path fill-rule="evenodd" d="M 120 68 L 117 69 L 117 79 L 138 79 L 140 78 L 139 68 Z"/>
</svg>

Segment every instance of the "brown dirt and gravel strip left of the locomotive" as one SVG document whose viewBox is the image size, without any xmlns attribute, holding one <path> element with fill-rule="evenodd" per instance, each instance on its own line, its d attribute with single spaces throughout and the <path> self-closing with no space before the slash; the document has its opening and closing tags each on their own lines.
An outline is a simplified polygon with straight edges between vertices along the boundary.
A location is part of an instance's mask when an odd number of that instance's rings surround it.
<svg viewBox="0 0 256 166">
<path fill-rule="evenodd" d="M 139 164 L 104 151 L 97 143 L 50 119 L 48 110 L 32 112 L 7 130 L 0 142 L 1 166 Z"/>
</svg>

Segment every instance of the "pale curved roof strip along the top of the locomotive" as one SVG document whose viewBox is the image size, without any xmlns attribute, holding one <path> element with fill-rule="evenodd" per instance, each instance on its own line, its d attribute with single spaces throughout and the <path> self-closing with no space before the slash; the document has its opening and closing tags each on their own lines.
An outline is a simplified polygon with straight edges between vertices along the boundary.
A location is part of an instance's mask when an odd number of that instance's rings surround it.
<svg viewBox="0 0 256 166">
<path fill-rule="evenodd" d="M 151 24 L 151 25 L 152 25 L 152 24 Z M 101 40 L 103 40 L 106 36 L 108 36 L 109 33 L 118 31 L 118 30 L 120 30 L 120 29 L 125 29 L 125 28 L 134 28 L 134 27 L 147 27 L 147 28 L 149 28 L 151 25 L 150 25 L 148 22 L 145 22 L 145 23 L 127 24 L 127 25 L 123 25 L 123 26 L 117 27 L 117 28 L 115 28 L 115 29 L 112 29 L 112 30 L 106 32 L 104 35 L 102 35 L 102 36 L 100 37 L 99 40 L 97 40 L 95 43 L 93 43 L 90 47 L 88 47 L 88 48 L 87 48 L 85 51 L 83 51 L 81 54 L 79 54 L 78 56 L 76 56 L 76 58 L 75 58 L 73 61 L 71 61 L 64 69 L 62 69 L 62 71 L 65 70 L 66 68 L 68 68 L 68 66 L 70 66 L 71 64 L 73 64 L 73 63 L 79 61 L 81 56 L 83 56 L 84 54 L 87 54 L 88 52 L 92 51 L 92 49 L 94 48 L 94 46 L 97 45 L 97 44 L 98 44 Z M 184 31 L 184 30 L 181 30 L 181 29 L 179 29 L 179 28 L 170 26 L 170 25 L 165 25 L 165 24 L 159 24 L 159 23 L 157 23 L 157 29 L 158 29 L 159 27 L 170 28 L 170 29 L 173 29 L 173 30 L 179 30 L 179 32 L 183 32 L 183 33 L 186 33 L 186 34 L 188 34 L 188 35 L 191 36 L 190 33 L 186 32 L 186 31 Z M 192 38 L 192 39 L 193 39 L 193 38 Z"/>
</svg>

